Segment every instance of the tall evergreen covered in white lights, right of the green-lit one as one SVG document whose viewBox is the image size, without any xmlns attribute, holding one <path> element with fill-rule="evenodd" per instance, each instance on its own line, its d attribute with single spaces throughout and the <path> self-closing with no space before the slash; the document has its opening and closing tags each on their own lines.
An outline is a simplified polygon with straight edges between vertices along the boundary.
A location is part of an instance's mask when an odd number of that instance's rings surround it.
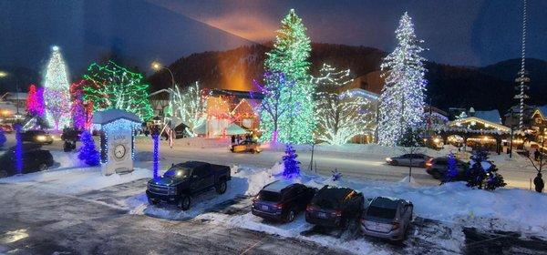
<svg viewBox="0 0 547 255">
<path fill-rule="evenodd" d="M 414 34 L 412 19 L 402 15 L 397 30 L 397 47 L 381 65 L 386 84 L 379 102 L 378 143 L 395 146 L 408 128 L 422 123 L 427 71 L 426 59 L 419 54 L 423 41 Z"/>
</svg>

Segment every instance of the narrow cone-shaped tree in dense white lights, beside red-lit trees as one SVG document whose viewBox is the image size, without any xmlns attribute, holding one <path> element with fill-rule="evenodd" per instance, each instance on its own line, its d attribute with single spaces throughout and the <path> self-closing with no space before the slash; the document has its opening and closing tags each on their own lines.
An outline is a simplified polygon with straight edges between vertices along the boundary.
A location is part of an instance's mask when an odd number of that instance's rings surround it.
<svg viewBox="0 0 547 255">
<path fill-rule="evenodd" d="M 67 66 L 58 46 L 52 47 L 44 76 L 44 105 L 51 128 L 70 127 L 70 83 Z"/>
</svg>

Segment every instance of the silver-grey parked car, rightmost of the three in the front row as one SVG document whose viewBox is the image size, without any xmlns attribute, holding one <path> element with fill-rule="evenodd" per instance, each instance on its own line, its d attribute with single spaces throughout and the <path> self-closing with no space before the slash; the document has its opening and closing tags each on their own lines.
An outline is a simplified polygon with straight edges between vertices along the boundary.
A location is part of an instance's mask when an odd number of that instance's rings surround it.
<svg viewBox="0 0 547 255">
<path fill-rule="evenodd" d="M 413 210 L 408 200 L 377 197 L 363 212 L 361 230 L 367 236 L 404 240 Z"/>
</svg>

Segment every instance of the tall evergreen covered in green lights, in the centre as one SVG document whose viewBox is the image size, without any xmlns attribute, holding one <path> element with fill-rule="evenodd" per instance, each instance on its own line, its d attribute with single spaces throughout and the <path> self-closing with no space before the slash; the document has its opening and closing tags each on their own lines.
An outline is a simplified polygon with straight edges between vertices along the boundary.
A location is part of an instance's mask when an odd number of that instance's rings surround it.
<svg viewBox="0 0 547 255">
<path fill-rule="evenodd" d="M 308 61 L 312 47 L 305 30 L 302 19 L 291 9 L 281 21 L 274 49 L 266 53 L 264 62 L 266 71 L 282 72 L 287 80 L 294 81 L 291 93 L 281 98 L 282 104 L 291 108 L 278 120 L 278 140 L 282 142 L 311 142 L 315 130 L 315 87 L 310 82 Z M 268 121 L 271 120 L 263 120 Z M 262 125 L 268 126 L 266 123 Z"/>
</svg>

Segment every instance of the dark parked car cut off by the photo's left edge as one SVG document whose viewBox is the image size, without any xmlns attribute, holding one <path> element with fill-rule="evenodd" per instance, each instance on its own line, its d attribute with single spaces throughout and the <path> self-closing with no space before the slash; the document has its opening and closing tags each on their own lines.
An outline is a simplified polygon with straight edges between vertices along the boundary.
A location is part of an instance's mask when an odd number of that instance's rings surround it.
<svg viewBox="0 0 547 255">
<path fill-rule="evenodd" d="M 43 171 L 53 166 L 53 156 L 49 150 L 42 149 L 36 144 L 23 144 L 21 148 L 21 159 L 23 161 L 22 174 Z M 0 156 L 0 178 L 17 174 L 15 160 L 15 147 L 8 148 Z"/>
</svg>

